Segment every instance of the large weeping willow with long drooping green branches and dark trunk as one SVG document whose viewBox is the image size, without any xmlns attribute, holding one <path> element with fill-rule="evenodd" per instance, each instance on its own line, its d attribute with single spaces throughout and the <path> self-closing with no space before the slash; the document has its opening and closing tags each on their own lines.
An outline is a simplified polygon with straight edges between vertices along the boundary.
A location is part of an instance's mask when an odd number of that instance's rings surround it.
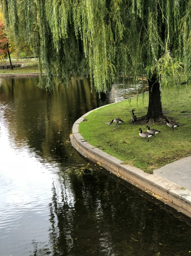
<svg viewBox="0 0 191 256">
<path fill-rule="evenodd" d="M 121 73 L 135 82 L 147 77 L 149 107 L 142 120 L 160 122 L 161 79 L 175 85 L 181 71 L 191 80 L 191 0 L 0 1 L 15 40 L 22 30 L 40 74 L 45 69 L 46 89 L 53 76 L 67 83 L 72 75 L 89 74 L 98 92 Z"/>
</svg>

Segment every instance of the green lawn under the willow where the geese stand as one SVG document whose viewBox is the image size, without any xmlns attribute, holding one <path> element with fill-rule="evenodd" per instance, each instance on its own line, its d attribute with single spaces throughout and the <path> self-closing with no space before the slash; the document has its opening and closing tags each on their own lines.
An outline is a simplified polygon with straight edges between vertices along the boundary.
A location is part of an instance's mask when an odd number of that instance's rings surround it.
<svg viewBox="0 0 191 256">
<path fill-rule="evenodd" d="M 144 142 L 139 136 L 139 128 L 147 131 L 147 124 L 132 124 L 131 109 L 136 109 L 135 114 L 143 116 L 147 114 L 148 96 L 145 94 L 144 105 L 142 97 L 131 99 L 131 106 L 128 100 L 112 104 L 90 113 L 86 118 L 87 122 L 81 122 L 79 132 L 84 139 L 110 155 L 117 157 L 124 164 L 129 164 L 152 173 L 154 169 L 167 165 L 170 162 L 191 155 L 191 117 L 184 116 L 191 114 L 191 93 L 189 87 L 182 86 L 179 92 L 176 88 L 170 87 L 162 91 L 163 112 L 173 117 L 180 127 L 174 131 L 165 124 L 150 124 L 150 128 L 158 129 L 161 133 L 149 142 Z M 188 111 L 188 113 L 181 113 Z M 108 125 L 112 119 L 119 117 L 124 123 L 120 127 Z"/>
</svg>

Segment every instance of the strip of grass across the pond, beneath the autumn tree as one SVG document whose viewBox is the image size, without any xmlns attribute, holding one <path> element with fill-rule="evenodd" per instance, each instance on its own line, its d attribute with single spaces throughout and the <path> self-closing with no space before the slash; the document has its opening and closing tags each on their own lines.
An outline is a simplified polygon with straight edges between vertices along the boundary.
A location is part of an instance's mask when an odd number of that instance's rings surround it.
<svg viewBox="0 0 191 256">
<path fill-rule="evenodd" d="M 2 69 L 0 70 L 0 74 L 8 74 L 8 73 L 38 73 L 38 63 L 23 63 L 28 66 L 26 67 L 20 67 L 20 68 L 14 68 L 14 69 Z"/>
</svg>

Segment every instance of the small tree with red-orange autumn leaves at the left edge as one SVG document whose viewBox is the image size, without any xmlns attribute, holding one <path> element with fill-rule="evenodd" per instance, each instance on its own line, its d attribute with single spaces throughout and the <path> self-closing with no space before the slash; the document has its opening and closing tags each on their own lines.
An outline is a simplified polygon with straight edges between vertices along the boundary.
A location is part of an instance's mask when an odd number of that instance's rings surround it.
<svg viewBox="0 0 191 256">
<path fill-rule="evenodd" d="M 9 56 L 11 69 L 13 69 L 9 48 L 9 38 L 6 35 L 3 21 L 0 21 L 0 59 L 5 59 Z"/>
</svg>

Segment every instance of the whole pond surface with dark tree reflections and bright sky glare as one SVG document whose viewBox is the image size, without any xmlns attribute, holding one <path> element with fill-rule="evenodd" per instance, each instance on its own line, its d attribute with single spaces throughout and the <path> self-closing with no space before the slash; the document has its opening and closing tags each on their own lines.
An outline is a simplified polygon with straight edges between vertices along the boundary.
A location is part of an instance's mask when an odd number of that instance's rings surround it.
<svg viewBox="0 0 191 256">
<path fill-rule="evenodd" d="M 0 255 L 191 255 L 187 217 L 91 162 L 93 175 L 69 174 L 88 163 L 71 146 L 73 123 L 122 89 L 99 99 L 85 79 L 37 84 L 0 79 Z"/>
</svg>

